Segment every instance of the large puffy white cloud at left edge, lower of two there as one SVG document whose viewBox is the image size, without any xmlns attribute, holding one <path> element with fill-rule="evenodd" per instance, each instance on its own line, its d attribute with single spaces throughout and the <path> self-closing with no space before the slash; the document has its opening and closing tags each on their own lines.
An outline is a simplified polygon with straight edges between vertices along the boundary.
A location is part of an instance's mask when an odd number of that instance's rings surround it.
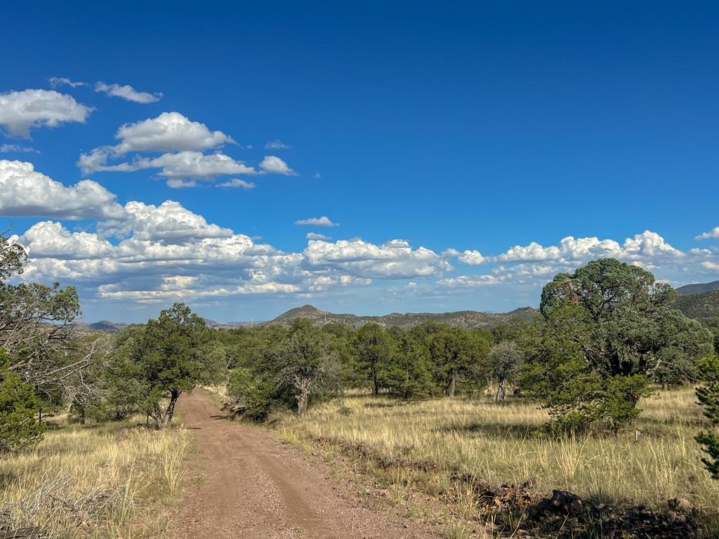
<svg viewBox="0 0 719 539">
<path fill-rule="evenodd" d="M 122 218 L 125 211 L 113 193 L 92 180 L 65 187 L 36 172 L 32 163 L 0 160 L 0 215 Z"/>
</svg>

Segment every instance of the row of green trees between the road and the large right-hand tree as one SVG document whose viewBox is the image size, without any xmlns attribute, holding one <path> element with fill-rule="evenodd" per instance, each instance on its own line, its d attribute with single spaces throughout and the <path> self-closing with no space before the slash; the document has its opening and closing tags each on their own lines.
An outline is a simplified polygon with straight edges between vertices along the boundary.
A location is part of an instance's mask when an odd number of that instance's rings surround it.
<svg viewBox="0 0 719 539">
<path fill-rule="evenodd" d="M 477 395 L 493 380 L 506 385 L 521 362 L 518 346 L 508 343 L 525 326 L 517 321 L 470 331 L 427 322 L 402 331 L 375 323 L 319 328 L 296 318 L 288 328 L 220 329 L 218 336 L 228 354 L 235 410 L 262 420 L 275 405 L 302 412 L 311 402 L 350 388 L 417 400 Z"/>
</svg>

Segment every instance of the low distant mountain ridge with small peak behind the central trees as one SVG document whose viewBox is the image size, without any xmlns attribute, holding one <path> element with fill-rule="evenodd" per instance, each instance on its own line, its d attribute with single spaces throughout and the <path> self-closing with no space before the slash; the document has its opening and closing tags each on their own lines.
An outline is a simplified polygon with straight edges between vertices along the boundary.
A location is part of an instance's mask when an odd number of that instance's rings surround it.
<svg viewBox="0 0 719 539">
<path fill-rule="evenodd" d="M 326 323 L 344 323 L 349 326 L 364 326 L 367 323 L 377 323 L 383 328 L 398 327 L 408 330 L 421 323 L 436 321 L 446 323 L 455 328 L 493 328 L 512 318 L 522 318 L 531 321 L 539 310 L 531 307 L 522 307 L 510 313 L 480 313 L 475 310 L 460 310 L 454 313 L 391 313 L 384 316 L 358 316 L 353 314 L 335 314 L 320 310 L 312 305 L 288 310 L 266 325 L 288 326 L 295 318 L 308 318 L 324 326 Z"/>
</svg>

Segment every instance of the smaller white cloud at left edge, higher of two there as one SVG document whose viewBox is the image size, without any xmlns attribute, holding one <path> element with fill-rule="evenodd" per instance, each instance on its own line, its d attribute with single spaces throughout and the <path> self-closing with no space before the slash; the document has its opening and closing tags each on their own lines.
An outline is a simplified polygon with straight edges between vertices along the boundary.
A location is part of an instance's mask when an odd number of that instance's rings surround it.
<svg viewBox="0 0 719 539">
<path fill-rule="evenodd" d="M 30 129 L 37 127 L 57 127 L 68 121 L 84 124 L 92 111 L 72 96 L 53 90 L 0 93 L 0 126 L 26 139 Z"/>
</svg>

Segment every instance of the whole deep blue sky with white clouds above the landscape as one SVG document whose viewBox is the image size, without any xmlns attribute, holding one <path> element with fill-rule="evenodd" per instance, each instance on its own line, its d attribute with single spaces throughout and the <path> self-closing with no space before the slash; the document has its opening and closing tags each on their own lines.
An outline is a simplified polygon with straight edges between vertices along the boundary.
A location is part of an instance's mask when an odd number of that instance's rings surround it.
<svg viewBox="0 0 719 539">
<path fill-rule="evenodd" d="M 88 321 L 504 311 L 604 256 L 719 279 L 713 2 L 4 15 L 0 228 Z"/>
</svg>

